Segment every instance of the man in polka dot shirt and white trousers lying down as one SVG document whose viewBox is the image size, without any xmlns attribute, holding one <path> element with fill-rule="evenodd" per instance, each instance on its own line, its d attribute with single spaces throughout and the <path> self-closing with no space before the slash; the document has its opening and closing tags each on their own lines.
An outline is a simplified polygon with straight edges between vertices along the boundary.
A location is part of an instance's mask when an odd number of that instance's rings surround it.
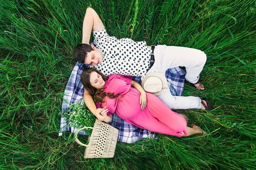
<svg viewBox="0 0 256 170">
<path fill-rule="evenodd" d="M 93 31 L 94 45 L 90 45 L 90 34 Z M 153 55 L 151 55 L 153 54 Z M 145 41 L 134 42 L 131 39 L 109 37 L 98 14 L 87 8 L 83 22 L 82 44 L 75 48 L 75 58 L 78 62 L 92 65 L 106 76 L 122 74 L 140 76 L 158 72 L 165 75 L 169 68 L 178 66 L 186 67 L 186 80 L 198 90 L 204 90 L 204 85 L 199 82 L 206 62 L 206 54 L 203 51 L 166 45 L 147 46 Z M 171 109 L 198 108 L 209 110 L 206 100 L 194 96 L 172 96 L 169 89 L 157 96 Z M 96 106 L 92 96 L 84 90 L 84 102 L 95 115 Z"/>
</svg>

